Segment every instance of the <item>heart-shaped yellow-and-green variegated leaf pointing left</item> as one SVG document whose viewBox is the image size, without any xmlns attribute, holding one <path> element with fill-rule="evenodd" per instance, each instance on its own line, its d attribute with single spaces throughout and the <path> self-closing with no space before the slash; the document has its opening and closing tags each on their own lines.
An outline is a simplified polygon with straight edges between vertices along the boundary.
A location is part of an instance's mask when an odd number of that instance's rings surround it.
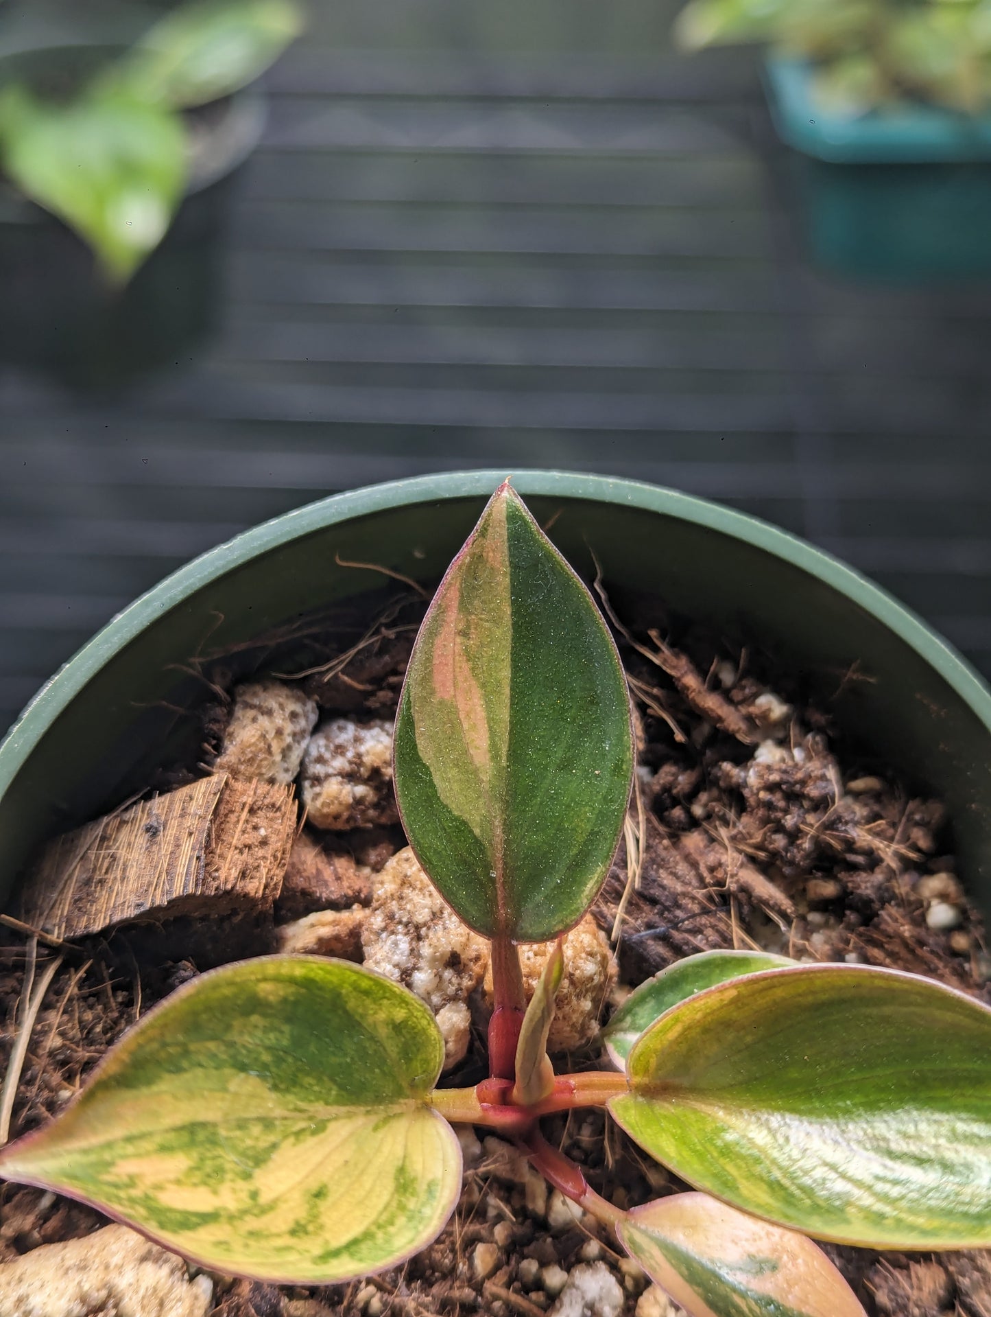
<svg viewBox="0 0 991 1317">
<path fill-rule="evenodd" d="M 150 1011 L 82 1096 L 0 1152 L 203 1266 L 324 1284 L 428 1245 L 461 1191 L 426 1105 L 444 1042 L 429 1009 L 358 965 L 261 957 Z"/>
</svg>

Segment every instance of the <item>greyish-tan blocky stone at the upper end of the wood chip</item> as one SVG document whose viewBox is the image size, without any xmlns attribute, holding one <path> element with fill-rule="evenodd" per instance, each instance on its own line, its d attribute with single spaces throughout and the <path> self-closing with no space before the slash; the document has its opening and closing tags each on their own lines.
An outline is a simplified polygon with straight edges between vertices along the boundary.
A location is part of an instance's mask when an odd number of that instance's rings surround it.
<svg viewBox="0 0 991 1317">
<path fill-rule="evenodd" d="M 234 709 L 213 770 L 232 777 L 291 782 L 317 720 L 317 703 L 280 681 L 249 681 Z"/>
</svg>

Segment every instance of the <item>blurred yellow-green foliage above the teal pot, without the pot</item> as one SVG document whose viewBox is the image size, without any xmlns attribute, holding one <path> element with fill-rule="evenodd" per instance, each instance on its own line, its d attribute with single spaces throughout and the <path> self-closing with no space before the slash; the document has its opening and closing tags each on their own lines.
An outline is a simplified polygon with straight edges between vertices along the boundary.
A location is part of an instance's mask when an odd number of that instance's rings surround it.
<svg viewBox="0 0 991 1317">
<path fill-rule="evenodd" d="M 834 113 L 991 104 L 991 0 L 690 0 L 675 34 L 691 50 L 770 41 L 809 61 L 815 100 Z"/>
</svg>

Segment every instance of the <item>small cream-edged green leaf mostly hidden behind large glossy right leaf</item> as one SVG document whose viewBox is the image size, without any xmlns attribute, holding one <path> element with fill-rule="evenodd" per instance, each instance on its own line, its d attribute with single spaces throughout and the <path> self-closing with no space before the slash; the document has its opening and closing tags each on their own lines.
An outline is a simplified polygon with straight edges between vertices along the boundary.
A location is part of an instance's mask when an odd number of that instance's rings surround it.
<svg viewBox="0 0 991 1317">
<path fill-rule="evenodd" d="M 623 1068 L 644 1030 L 679 1001 L 728 979 L 759 973 L 762 969 L 784 969 L 794 964 L 787 956 L 773 956 L 766 951 L 701 951 L 698 956 L 675 960 L 636 988 L 613 1014 L 603 1030 L 607 1051 L 613 1063 Z"/>
</svg>

